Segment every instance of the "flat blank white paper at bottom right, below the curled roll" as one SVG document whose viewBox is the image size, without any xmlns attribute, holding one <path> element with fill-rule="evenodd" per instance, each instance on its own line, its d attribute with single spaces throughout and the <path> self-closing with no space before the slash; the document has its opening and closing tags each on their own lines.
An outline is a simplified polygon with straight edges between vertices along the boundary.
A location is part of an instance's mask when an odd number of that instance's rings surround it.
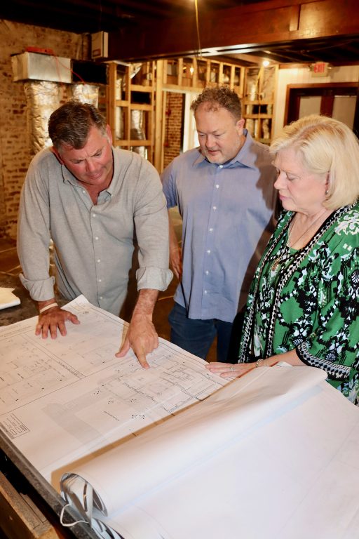
<svg viewBox="0 0 359 539">
<path fill-rule="evenodd" d="M 358 411 L 327 390 L 111 515 L 112 526 L 131 539 L 146 539 L 149 518 L 165 539 L 357 539 Z"/>
</svg>

